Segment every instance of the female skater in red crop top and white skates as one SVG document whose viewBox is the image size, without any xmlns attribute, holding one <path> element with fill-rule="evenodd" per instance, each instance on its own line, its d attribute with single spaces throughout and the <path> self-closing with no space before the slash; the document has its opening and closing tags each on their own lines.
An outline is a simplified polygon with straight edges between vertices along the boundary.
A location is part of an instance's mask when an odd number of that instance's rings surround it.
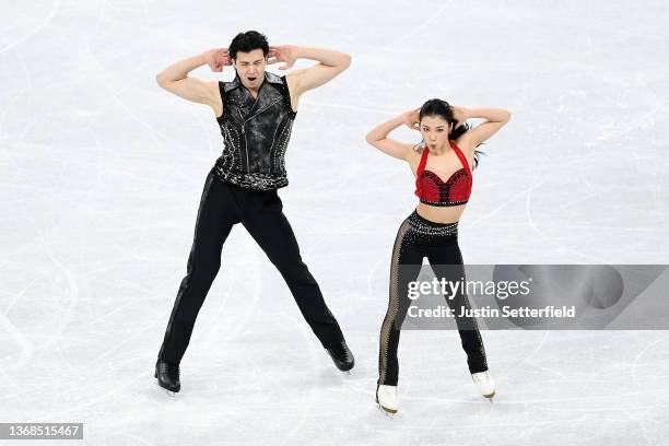
<svg viewBox="0 0 669 446">
<path fill-rule="evenodd" d="M 466 124 L 469 118 L 485 121 L 470 128 Z M 420 109 L 404 111 L 367 133 L 369 144 L 409 163 L 415 175 L 415 195 L 420 198 L 413 213 L 400 225 L 392 248 L 390 298 L 380 330 L 376 388 L 376 401 L 387 413 L 395 413 L 399 408 L 397 348 L 410 302 L 407 294 L 409 281 L 416 279 L 423 257 L 430 260 L 437 279 L 445 275 L 447 280 L 465 278 L 458 246 L 458 221 L 471 193 L 470 166 L 478 165 L 476 148 L 509 119 L 510 113 L 502 108 L 465 108 L 450 106 L 442 99 L 430 99 Z M 401 125 L 419 130 L 423 137 L 421 143 L 388 138 L 388 133 Z M 449 297 L 446 302 L 454 315 L 459 315 L 462 307 L 470 308 L 465 293 Z M 472 379 L 484 397 L 492 398 L 495 384 L 488 369 L 477 321 L 472 317 L 456 317 L 456 322 Z"/>
</svg>

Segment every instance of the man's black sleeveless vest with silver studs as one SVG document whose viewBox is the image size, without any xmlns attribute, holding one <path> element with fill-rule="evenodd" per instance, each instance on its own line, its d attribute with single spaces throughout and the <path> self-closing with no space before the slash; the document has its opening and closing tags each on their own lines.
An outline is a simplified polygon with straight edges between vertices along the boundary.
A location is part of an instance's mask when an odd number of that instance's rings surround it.
<svg viewBox="0 0 669 446">
<path fill-rule="evenodd" d="M 239 77 L 219 82 L 223 115 L 216 118 L 223 136 L 223 154 L 214 172 L 225 183 L 271 190 L 287 186 L 285 149 L 296 113 L 285 77 L 265 72 L 254 99 Z"/>
</svg>

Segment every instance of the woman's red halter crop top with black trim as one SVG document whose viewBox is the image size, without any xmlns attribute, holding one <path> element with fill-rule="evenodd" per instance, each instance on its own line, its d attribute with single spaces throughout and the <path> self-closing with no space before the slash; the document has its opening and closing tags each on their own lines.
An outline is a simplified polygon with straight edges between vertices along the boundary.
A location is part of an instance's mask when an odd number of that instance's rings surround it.
<svg viewBox="0 0 669 446">
<path fill-rule="evenodd" d="M 437 174 L 425 171 L 430 150 L 424 148 L 421 163 L 415 173 L 415 195 L 421 199 L 421 203 L 430 206 L 459 206 L 469 201 L 472 185 L 469 163 L 455 141 L 449 140 L 448 142 L 456 155 L 458 155 L 458 159 L 460 159 L 463 167 L 456 171 L 446 181 L 442 181 Z"/>
</svg>

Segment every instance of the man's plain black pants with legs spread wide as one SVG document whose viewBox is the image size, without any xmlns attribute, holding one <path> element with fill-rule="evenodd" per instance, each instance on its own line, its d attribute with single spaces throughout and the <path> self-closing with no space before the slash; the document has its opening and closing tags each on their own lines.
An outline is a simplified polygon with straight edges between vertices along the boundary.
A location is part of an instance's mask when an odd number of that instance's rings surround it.
<svg viewBox="0 0 669 446">
<path fill-rule="evenodd" d="M 181 361 L 200 307 L 221 268 L 223 243 L 236 223 L 246 227 L 281 272 L 322 347 L 341 342 L 341 329 L 318 283 L 302 261 L 277 190 L 242 188 L 223 183 L 214 175 L 212 169 L 204 183 L 187 273 L 181 280 L 159 357 L 172 363 Z"/>
</svg>

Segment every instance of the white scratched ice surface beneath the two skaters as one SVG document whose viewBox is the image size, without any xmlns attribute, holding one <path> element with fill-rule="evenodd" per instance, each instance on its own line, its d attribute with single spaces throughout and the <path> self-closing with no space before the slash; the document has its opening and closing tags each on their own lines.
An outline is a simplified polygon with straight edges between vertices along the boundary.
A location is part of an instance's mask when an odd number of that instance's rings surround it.
<svg viewBox="0 0 669 446">
<path fill-rule="evenodd" d="M 668 263 L 666 2 L 4 0 L 0 16 L 0 422 L 81 422 L 115 446 L 669 444 L 666 331 L 484 330 L 493 404 L 457 332 L 407 332 L 384 416 L 378 330 L 416 200 L 364 140 L 431 97 L 508 108 L 460 221 L 467 263 Z M 280 197 L 356 366 L 333 367 L 237 225 L 171 398 L 153 367 L 222 138 L 155 75 L 247 30 L 353 57 L 303 96 Z"/>
</svg>

